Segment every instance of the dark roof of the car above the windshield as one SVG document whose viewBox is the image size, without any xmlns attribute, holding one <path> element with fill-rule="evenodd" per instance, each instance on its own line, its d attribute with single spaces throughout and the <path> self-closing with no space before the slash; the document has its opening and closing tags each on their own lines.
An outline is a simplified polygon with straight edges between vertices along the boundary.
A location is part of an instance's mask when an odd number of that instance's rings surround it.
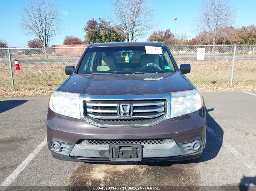
<svg viewBox="0 0 256 191">
<path fill-rule="evenodd" d="M 162 42 L 113 42 L 113 43 L 94 43 L 90 47 L 101 46 L 165 46 Z"/>
</svg>

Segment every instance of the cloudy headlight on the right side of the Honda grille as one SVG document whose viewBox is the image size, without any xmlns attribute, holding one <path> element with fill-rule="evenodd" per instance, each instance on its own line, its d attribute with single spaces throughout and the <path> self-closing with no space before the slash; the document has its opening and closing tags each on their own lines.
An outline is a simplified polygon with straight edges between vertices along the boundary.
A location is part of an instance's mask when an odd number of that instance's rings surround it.
<svg viewBox="0 0 256 191">
<path fill-rule="evenodd" d="M 198 90 L 171 93 L 171 118 L 195 112 L 203 107 L 203 99 Z"/>
</svg>

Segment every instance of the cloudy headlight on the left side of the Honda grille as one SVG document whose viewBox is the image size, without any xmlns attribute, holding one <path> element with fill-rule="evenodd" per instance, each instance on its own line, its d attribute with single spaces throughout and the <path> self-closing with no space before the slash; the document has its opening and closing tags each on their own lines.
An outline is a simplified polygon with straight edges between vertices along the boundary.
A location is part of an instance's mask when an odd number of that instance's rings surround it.
<svg viewBox="0 0 256 191">
<path fill-rule="evenodd" d="M 50 97 L 49 107 L 58 114 L 80 119 L 80 94 L 55 91 Z"/>
</svg>

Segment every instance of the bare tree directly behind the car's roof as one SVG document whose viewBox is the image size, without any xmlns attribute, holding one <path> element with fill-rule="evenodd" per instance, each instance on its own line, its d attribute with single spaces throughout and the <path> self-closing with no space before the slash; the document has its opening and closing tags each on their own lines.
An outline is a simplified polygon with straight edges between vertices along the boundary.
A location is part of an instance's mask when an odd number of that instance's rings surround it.
<svg viewBox="0 0 256 191">
<path fill-rule="evenodd" d="M 127 41 L 150 34 L 155 27 L 154 11 L 148 6 L 148 0 L 110 0 L 112 11 L 109 18 L 125 32 Z"/>
</svg>

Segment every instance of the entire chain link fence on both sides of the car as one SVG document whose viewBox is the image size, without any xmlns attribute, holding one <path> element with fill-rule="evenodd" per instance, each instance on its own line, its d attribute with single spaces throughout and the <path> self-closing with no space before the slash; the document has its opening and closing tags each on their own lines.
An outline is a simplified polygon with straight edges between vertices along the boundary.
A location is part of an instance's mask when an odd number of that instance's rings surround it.
<svg viewBox="0 0 256 191">
<path fill-rule="evenodd" d="M 191 64 L 191 73 L 185 75 L 201 91 L 256 90 L 256 45 L 168 48 L 178 65 Z M 51 94 L 68 77 L 65 66 L 77 65 L 84 49 L 0 49 L 0 96 Z M 20 70 L 15 68 L 16 57 Z"/>
</svg>

